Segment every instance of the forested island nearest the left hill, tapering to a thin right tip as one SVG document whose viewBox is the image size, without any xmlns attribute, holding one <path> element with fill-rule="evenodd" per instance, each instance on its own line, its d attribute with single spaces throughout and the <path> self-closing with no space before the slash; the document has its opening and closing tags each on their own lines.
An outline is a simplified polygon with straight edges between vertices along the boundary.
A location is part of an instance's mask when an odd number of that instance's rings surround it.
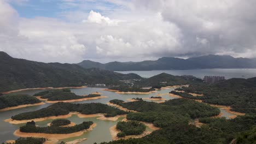
<svg viewBox="0 0 256 144">
<path fill-rule="evenodd" d="M 47 99 L 47 101 L 63 101 L 63 100 L 76 100 L 85 98 L 101 97 L 100 94 L 89 94 L 85 96 L 76 95 L 70 89 L 53 89 L 34 94 L 35 97 Z"/>
</svg>

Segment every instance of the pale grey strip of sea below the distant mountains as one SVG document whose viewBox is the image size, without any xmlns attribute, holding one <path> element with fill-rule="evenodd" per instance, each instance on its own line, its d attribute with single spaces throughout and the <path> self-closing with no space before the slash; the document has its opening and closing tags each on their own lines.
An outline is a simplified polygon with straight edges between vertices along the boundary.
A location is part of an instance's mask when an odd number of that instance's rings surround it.
<svg viewBox="0 0 256 144">
<path fill-rule="evenodd" d="M 135 73 L 142 77 L 152 77 L 161 73 L 171 75 L 193 75 L 203 78 L 206 75 L 225 76 L 225 79 L 231 78 L 251 78 L 256 76 L 256 69 L 192 69 L 192 70 L 150 70 L 150 71 L 117 71 L 118 73 Z"/>
</svg>

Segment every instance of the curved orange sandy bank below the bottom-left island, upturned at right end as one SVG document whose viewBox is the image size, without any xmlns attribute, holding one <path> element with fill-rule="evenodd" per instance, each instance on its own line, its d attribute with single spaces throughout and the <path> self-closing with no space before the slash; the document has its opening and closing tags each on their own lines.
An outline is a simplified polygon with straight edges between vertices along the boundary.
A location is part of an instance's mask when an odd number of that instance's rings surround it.
<svg viewBox="0 0 256 144">
<path fill-rule="evenodd" d="M 83 135 L 86 131 L 91 131 L 93 128 L 96 127 L 96 123 L 92 124 L 89 129 L 85 129 L 82 131 L 78 131 L 71 134 L 44 134 L 44 133 L 24 133 L 21 132 L 20 129 L 14 131 L 15 136 L 19 137 L 44 137 L 45 139 L 49 140 L 61 140 L 61 139 L 68 139 L 70 137 L 77 137 Z"/>
</svg>

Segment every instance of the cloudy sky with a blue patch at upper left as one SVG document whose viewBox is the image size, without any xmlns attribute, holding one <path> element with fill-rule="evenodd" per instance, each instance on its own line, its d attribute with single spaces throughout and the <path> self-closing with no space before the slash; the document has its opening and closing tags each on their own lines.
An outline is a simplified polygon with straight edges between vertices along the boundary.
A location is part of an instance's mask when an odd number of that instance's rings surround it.
<svg viewBox="0 0 256 144">
<path fill-rule="evenodd" d="M 0 0 L 0 51 L 39 62 L 256 57 L 254 0 Z"/>
</svg>

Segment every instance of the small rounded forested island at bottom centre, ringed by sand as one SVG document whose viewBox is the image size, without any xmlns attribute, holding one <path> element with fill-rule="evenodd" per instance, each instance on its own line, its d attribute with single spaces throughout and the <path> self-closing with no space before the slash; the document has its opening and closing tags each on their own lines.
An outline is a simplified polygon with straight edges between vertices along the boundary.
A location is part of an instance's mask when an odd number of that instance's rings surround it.
<svg viewBox="0 0 256 144">
<path fill-rule="evenodd" d="M 140 135 L 146 130 L 146 125 L 137 121 L 118 122 L 117 130 L 121 132 L 117 134 L 118 137 L 125 137 L 127 135 Z"/>
</svg>

